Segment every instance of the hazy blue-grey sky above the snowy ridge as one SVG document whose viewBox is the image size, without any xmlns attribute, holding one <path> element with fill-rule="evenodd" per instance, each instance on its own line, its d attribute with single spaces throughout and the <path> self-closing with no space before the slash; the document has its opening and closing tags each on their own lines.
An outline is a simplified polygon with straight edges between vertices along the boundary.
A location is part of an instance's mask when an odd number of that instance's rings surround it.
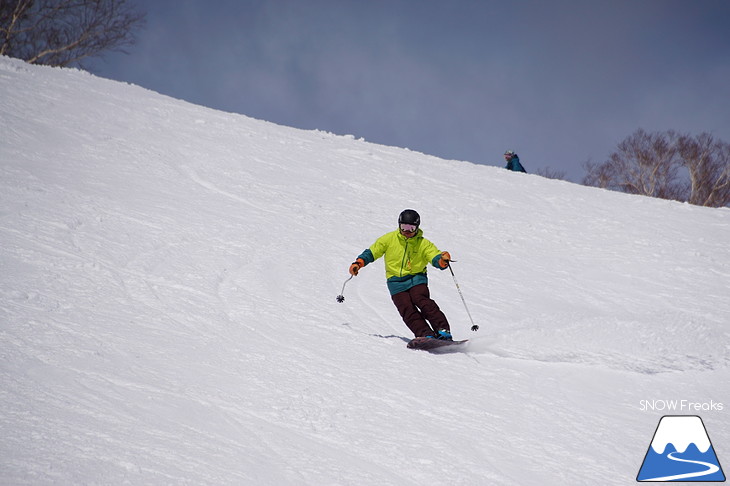
<svg viewBox="0 0 730 486">
<path fill-rule="evenodd" d="M 730 142 L 728 0 L 133 0 L 103 77 L 281 125 L 580 181 L 638 128 Z"/>
</svg>

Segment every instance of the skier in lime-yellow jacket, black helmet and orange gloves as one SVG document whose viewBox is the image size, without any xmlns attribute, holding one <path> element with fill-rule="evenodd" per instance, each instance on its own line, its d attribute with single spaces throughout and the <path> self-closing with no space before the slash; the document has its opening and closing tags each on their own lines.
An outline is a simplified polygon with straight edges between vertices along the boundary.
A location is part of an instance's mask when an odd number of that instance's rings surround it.
<svg viewBox="0 0 730 486">
<path fill-rule="evenodd" d="M 385 256 L 388 290 L 406 326 L 416 337 L 452 340 L 446 316 L 431 299 L 426 276 L 429 263 L 444 270 L 451 256 L 424 238 L 420 225 L 421 217 L 413 209 L 400 213 L 398 229 L 363 251 L 350 265 L 350 274 L 356 276 L 362 267 Z"/>
</svg>

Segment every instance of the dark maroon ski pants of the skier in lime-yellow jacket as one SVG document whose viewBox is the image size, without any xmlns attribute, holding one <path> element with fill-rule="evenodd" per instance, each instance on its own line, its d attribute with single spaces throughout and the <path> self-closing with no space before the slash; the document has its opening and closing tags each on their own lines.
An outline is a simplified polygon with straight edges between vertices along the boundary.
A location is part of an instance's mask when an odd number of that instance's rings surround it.
<svg viewBox="0 0 730 486">
<path fill-rule="evenodd" d="M 403 318 L 403 322 L 416 337 L 432 336 L 434 330 L 446 329 L 448 331 L 451 329 L 444 313 L 441 312 L 436 302 L 431 300 L 428 285 L 416 285 L 392 295 L 391 298 Z M 431 324 L 431 327 L 426 321 Z"/>
</svg>

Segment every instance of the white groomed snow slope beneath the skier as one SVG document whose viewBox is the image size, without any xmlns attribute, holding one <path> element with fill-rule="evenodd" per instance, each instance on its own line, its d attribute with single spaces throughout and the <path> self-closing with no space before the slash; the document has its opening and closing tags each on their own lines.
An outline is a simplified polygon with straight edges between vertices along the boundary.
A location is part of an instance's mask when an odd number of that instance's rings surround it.
<svg viewBox="0 0 730 486">
<path fill-rule="evenodd" d="M 728 209 L 8 58 L 0 133 L 3 484 L 624 485 L 667 413 L 730 463 Z M 467 352 L 406 349 L 380 261 L 335 302 L 408 207 Z"/>
</svg>

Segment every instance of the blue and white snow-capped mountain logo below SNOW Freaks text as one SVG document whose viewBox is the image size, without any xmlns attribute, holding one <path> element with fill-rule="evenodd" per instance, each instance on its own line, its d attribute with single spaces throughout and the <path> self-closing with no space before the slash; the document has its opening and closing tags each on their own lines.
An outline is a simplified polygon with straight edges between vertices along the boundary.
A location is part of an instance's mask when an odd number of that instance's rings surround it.
<svg viewBox="0 0 730 486">
<path fill-rule="evenodd" d="M 702 419 L 696 415 L 662 417 L 636 480 L 725 481 Z"/>
</svg>

